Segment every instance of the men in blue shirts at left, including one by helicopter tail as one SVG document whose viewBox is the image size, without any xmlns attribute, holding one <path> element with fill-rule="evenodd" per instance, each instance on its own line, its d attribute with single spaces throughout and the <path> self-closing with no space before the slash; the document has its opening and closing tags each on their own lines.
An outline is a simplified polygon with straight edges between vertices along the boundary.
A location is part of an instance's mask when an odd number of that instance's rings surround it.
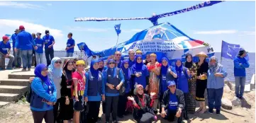
<svg viewBox="0 0 256 123">
<path fill-rule="evenodd" d="M 55 39 L 50 35 L 49 30 L 45 30 L 45 35 L 41 38 L 41 33 L 28 33 L 26 32 L 23 25 L 20 25 L 18 29 L 14 31 L 15 33 L 11 35 L 13 55 L 11 54 L 11 43 L 10 38 L 6 35 L 2 37 L 0 42 L 0 57 L 8 58 L 9 64 L 6 69 L 22 68 L 22 71 L 30 71 L 33 64 L 43 63 L 43 47 L 45 47 L 45 58 L 47 65 L 50 65 L 50 61 L 54 57 L 53 45 L 55 45 Z M 73 57 L 74 53 L 74 39 L 72 38 L 72 33 L 67 35 L 67 51 L 66 57 Z M 4 60 L 1 59 L 0 70 L 5 69 Z"/>
</svg>

